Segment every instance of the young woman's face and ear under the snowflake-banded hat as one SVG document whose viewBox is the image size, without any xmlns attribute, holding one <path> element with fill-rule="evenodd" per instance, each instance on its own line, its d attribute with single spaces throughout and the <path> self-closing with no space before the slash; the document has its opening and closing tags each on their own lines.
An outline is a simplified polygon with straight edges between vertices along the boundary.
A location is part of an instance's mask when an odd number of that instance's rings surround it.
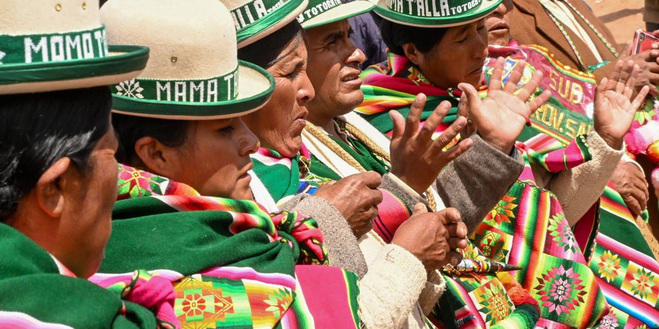
<svg viewBox="0 0 659 329">
<path fill-rule="evenodd" d="M 188 128 L 185 143 L 167 147 L 140 138 L 135 151 L 150 172 L 192 186 L 202 195 L 252 199 L 250 154 L 259 141 L 240 117 L 199 120 Z"/>
</svg>

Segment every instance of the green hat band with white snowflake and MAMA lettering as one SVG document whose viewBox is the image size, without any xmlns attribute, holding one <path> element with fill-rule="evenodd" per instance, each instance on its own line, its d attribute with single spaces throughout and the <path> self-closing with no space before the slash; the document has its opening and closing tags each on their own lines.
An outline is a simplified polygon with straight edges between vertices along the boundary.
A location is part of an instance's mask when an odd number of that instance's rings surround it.
<svg viewBox="0 0 659 329">
<path fill-rule="evenodd" d="M 110 87 L 119 96 L 152 101 L 215 103 L 238 97 L 238 65 L 233 71 L 202 80 L 140 79 L 120 82 Z"/>
</svg>

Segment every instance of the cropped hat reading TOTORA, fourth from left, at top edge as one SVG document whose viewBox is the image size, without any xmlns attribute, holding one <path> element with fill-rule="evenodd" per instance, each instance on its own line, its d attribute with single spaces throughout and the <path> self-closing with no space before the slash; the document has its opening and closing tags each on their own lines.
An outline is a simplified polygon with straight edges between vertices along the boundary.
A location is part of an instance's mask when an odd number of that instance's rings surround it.
<svg viewBox="0 0 659 329">
<path fill-rule="evenodd" d="M 340 0 L 309 0 L 297 21 L 305 29 L 345 20 L 358 14 L 368 13 L 375 5 L 366 0 L 341 3 Z"/>
</svg>

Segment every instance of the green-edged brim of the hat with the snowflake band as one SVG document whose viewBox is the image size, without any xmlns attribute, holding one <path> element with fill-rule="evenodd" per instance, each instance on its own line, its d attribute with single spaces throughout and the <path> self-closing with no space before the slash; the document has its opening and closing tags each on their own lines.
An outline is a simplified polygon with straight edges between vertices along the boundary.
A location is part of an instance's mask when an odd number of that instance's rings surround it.
<svg viewBox="0 0 659 329">
<path fill-rule="evenodd" d="M 217 120 L 252 113 L 268 103 L 275 79 L 260 66 L 238 61 L 238 97 L 229 101 L 191 103 L 112 95 L 112 111 L 171 120 Z"/>
</svg>

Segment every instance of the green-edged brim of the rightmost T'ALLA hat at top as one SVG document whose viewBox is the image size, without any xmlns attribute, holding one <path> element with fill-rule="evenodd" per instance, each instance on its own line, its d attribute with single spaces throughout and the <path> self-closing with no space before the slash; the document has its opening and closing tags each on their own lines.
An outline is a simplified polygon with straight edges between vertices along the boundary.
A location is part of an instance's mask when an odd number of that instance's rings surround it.
<svg viewBox="0 0 659 329">
<path fill-rule="evenodd" d="M 476 22 L 496 10 L 501 0 L 483 0 L 480 7 L 467 14 L 450 17 L 417 17 L 407 14 L 396 13 L 387 8 L 387 0 L 374 0 L 377 5 L 373 11 L 386 20 L 398 24 L 418 26 L 420 28 L 450 28 Z"/>
</svg>

